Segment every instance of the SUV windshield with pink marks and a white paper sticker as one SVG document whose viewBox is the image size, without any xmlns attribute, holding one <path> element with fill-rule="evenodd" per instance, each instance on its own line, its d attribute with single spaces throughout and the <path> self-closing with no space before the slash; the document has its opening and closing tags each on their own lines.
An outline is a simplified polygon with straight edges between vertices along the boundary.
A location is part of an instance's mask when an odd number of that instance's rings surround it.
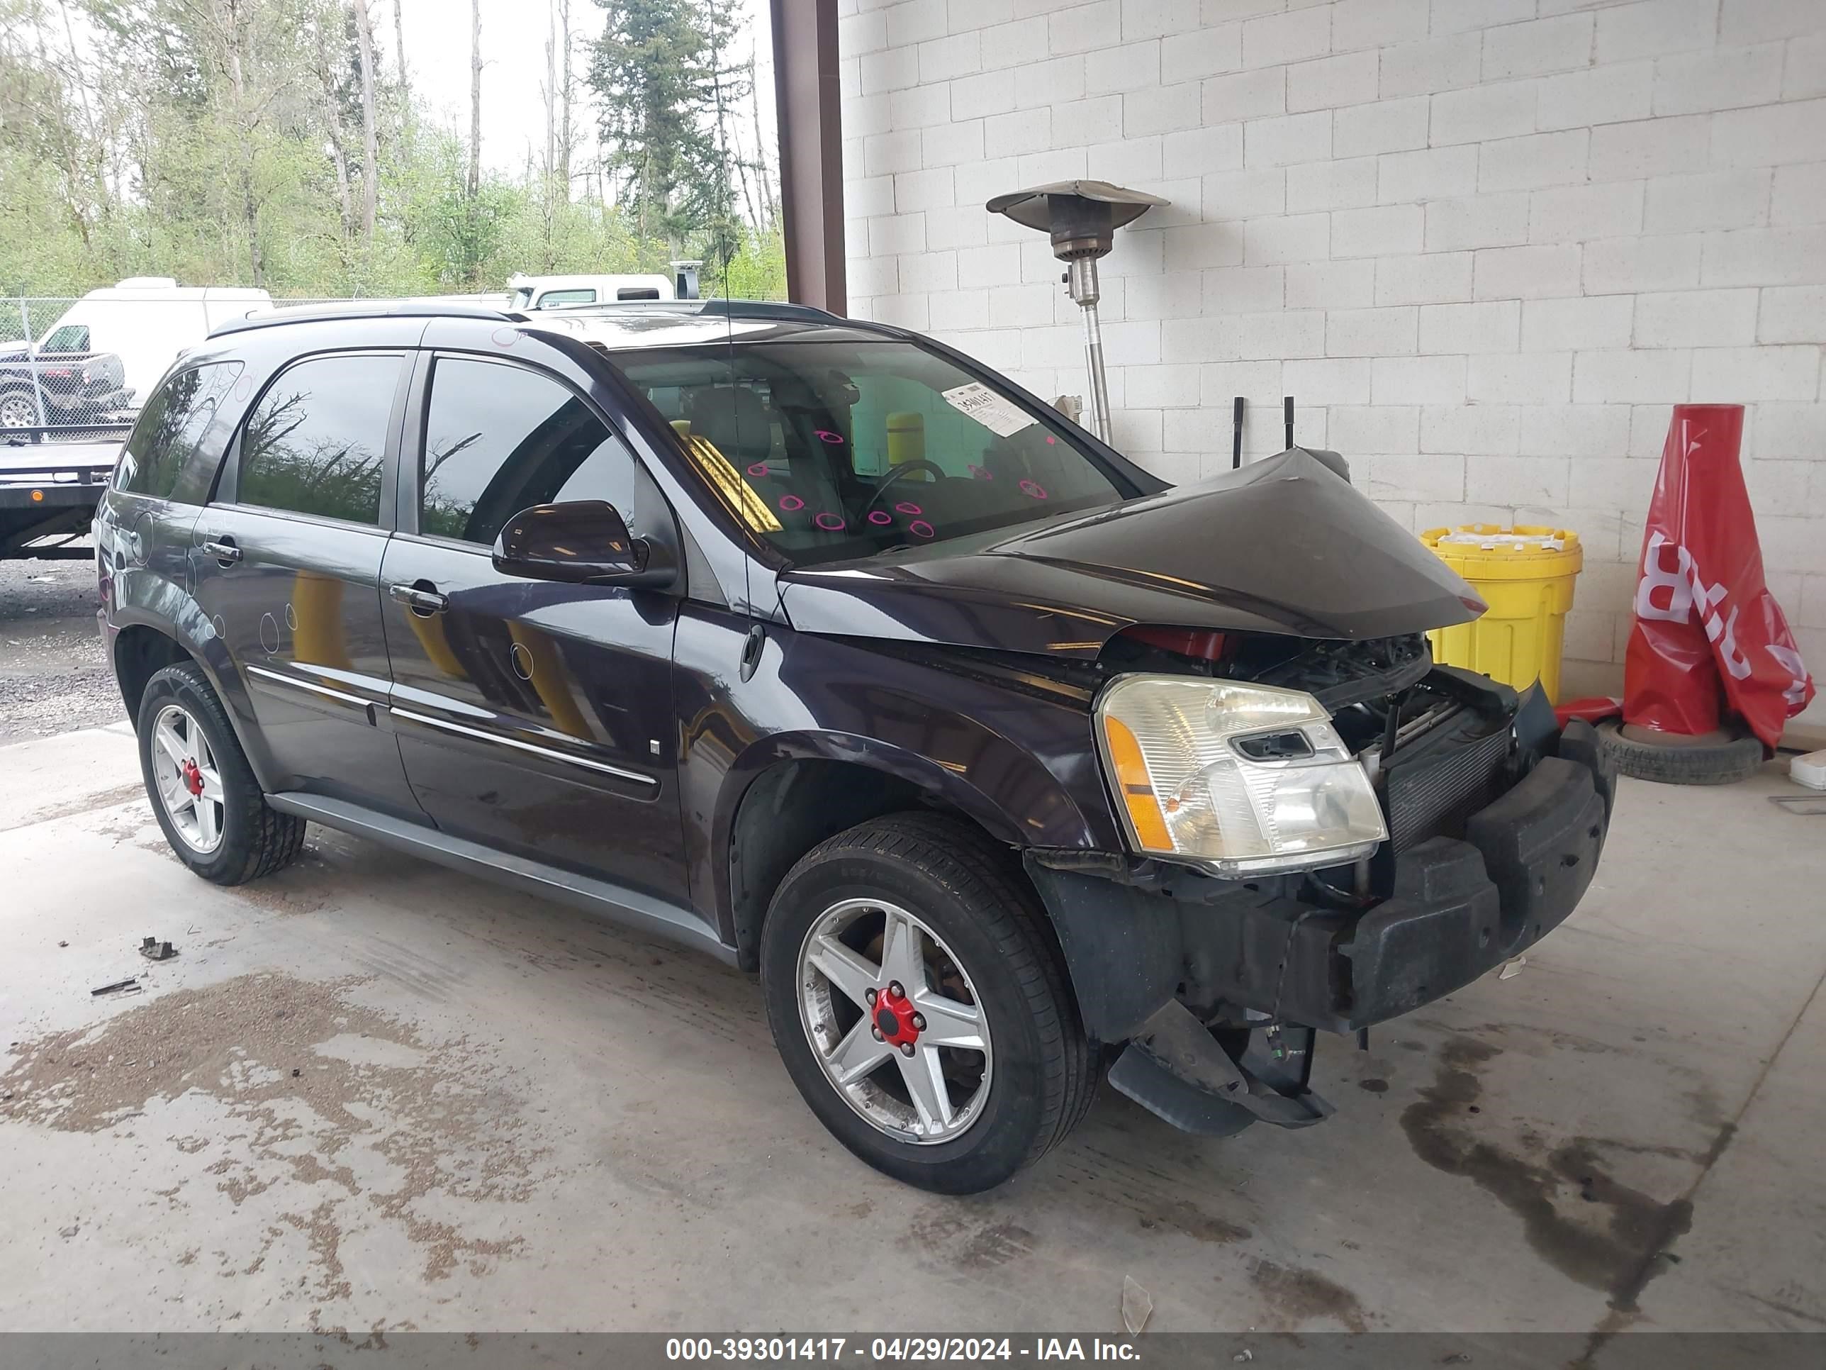
<svg viewBox="0 0 1826 1370">
<path fill-rule="evenodd" d="M 1139 493 L 1059 415 L 913 343 L 738 343 L 732 358 L 641 349 L 614 362 L 736 517 L 800 566 Z"/>
</svg>

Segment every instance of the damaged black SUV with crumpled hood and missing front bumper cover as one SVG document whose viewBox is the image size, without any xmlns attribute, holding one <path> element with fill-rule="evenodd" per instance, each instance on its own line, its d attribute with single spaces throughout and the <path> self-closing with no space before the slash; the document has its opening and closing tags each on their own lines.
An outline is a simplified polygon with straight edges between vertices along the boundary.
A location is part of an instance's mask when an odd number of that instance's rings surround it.
<svg viewBox="0 0 1826 1370">
<path fill-rule="evenodd" d="M 97 517 L 173 851 L 307 822 L 760 972 L 851 1151 L 995 1186 L 1101 1067 L 1304 1127 L 1318 1030 L 1578 904 L 1612 780 L 1483 605 L 1293 448 L 1167 486 L 917 334 L 787 305 L 287 311 L 190 351 Z"/>
</svg>

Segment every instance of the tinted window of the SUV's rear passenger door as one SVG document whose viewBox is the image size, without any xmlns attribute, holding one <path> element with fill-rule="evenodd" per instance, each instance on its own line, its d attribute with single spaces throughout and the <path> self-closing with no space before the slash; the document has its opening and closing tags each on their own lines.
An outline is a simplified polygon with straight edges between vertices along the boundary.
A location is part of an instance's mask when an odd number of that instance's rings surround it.
<svg viewBox="0 0 1826 1370">
<path fill-rule="evenodd" d="M 237 504 L 380 522 L 398 356 L 316 356 L 279 374 L 241 438 Z"/>
</svg>

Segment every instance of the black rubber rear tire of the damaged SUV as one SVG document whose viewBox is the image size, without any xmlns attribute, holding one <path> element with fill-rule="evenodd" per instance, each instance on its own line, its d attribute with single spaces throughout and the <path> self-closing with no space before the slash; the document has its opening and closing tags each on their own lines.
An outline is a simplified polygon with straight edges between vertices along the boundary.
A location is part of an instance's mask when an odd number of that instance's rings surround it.
<svg viewBox="0 0 1826 1370">
<path fill-rule="evenodd" d="M 188 727 L 181 720 L 188 720 Z M 305 846 L 305 820 L 267 806 L 203 667 L 181 661 L 159 670 L 146 681 L 133 725 L 146 796 L 181 862 L 214 884 L 245 884 L 292 864 Z M 201 743 L 190 727 L 201 732 Z M 166 745 L 168 738 L 183 743 L 192 767 L 199 758 L 214 762 L 195 773 L 194 804 L 184 802 L 183 791 L 192 780 Z M 205 776 L 214 776 L 214 784 Z M 205 809 L 212 822 L 201 817 Z"/>
</svg>

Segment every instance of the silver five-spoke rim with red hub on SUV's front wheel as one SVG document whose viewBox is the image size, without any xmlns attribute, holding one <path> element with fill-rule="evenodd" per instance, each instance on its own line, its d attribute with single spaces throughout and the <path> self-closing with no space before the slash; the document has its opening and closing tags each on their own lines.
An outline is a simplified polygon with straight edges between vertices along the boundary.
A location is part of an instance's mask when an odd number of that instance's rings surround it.
<svg viewBox="0 0 1826 1370">
<path fill-rule="evenodd" d="M 800 944 L 798 990 L 813 1054 L 873 1127 L 933 1145 L 982 1116 L 990 1025 L 970 974 L 918 917 L 878 899 L 833 904 Z"/>
</svg>

